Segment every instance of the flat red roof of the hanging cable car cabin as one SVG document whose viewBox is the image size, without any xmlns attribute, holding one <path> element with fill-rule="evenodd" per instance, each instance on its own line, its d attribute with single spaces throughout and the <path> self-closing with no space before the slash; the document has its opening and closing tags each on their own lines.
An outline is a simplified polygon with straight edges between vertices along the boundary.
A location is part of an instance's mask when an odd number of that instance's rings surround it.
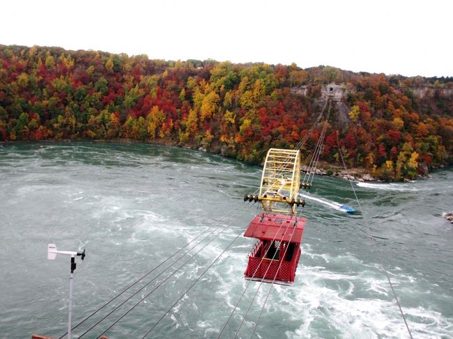
<svg viewBox="0 0 453 339">
<path fill-rule="evenodd" d="M 306 222 L 305 218 L 289 214 L 259 214 L 245 230 L 244 237 L 300 244 Z"/>
</svg>

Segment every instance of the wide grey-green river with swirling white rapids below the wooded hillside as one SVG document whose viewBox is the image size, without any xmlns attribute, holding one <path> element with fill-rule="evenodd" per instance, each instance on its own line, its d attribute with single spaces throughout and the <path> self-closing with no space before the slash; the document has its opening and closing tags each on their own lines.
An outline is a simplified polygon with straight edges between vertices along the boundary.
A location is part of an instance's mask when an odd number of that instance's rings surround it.
<svg viewBox="0 0 453 339">
<path fill-rule="evenodd" d="M 451 168 L 416 182 L 353 182 L 363 214 L 350 182 L 316 177 L 315 199 L 300 209 L 308 221 L 295 283 L 272 287 L 266 303 L 270 285 L 243 278 L 253 239 L 242 234 L 259 213 L 243 196 L 260 178 L 259 167 L 182 148 L 0 144 L 0 338 L 66 333 L 70 259 L 47 260 L 48 243 L 86 250 L 73 325 L 158 267 L 73 338 L 128 298 L 82 338 L 134 305 L 105 336 L 217 338 L 244 293 L 221 337 L 234 338 L 258 288 L 238 338 L 250 338 L 263 306 L 254 338 L 408 338 L 382 265 L 413 337 L 453 338 L 453 226 L 442 218 L 453 210 Z"/>
</svg>

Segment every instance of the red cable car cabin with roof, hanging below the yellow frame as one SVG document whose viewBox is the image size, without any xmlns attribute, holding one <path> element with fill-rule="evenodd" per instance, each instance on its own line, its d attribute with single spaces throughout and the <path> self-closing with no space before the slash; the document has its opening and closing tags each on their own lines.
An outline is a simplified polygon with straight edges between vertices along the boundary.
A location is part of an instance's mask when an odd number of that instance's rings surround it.
<svg viewBox="0 0 453 339">
<path fill-rule="evenodd" d="M 259 239 L 245 269 L 245 278 L 291 285 L 300 257 L 300 242 L 307 219 L 286 214 L 259 214 L 244 237 Z"/>
</svg>

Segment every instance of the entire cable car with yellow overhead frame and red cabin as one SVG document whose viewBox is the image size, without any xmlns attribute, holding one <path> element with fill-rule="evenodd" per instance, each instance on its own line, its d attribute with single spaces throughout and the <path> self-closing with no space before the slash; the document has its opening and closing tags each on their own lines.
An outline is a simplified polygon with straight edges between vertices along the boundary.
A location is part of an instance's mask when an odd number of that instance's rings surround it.
<svg viewBox="0 0 453 339">
<path fill-rule="evenodd" d="M 291 285 L 300 258 L 300 242 L 307 219 L 295 208 L 300 184 L 299 150 L 270 148 L 263 167 L 259 195 L 246 194 L 244 200 L 260 203 L 261 214 L 254 217 L 245 237 L 256 238 L 248 255 L 244 276 L 247 280 Z"/>
</svg>

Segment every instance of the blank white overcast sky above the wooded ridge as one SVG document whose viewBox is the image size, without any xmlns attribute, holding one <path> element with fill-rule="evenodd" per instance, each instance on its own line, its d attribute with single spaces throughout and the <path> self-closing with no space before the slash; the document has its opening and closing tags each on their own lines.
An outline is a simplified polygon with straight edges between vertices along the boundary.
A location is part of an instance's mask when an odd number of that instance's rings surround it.
<svg viewBox="0 0 453 339">
<path fill-rule="evenodd" d="M 451 0 L 10 0 L 1 13 L 3 45 L 453 76 Z"/>
</svg>

